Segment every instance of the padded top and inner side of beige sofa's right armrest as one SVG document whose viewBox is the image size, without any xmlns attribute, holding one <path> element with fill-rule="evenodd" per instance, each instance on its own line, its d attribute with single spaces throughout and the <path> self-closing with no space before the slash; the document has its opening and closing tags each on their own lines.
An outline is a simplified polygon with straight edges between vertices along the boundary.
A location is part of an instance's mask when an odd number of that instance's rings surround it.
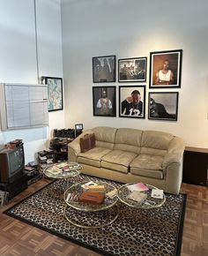
<svg viewBox="0 0 208 256">
<path fill-rule="evenodd" d="M 184 151 L 183 140 L 179 137 L 175 137 L 171 140 L 167 154 L 165 154 L 164 161 L 162 163 L 162 168 L 167 169 L 167 166 L 173 163 L 181 163 Z"/>
</svg>

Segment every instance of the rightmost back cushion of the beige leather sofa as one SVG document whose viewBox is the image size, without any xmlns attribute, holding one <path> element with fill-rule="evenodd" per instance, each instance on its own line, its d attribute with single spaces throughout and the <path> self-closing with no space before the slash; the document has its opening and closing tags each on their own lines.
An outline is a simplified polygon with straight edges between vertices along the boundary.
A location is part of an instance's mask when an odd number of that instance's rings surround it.
<svg viewBox="0 0 208 256">
<path fill-rule="evenodd" d="M 142 133 L 141 154 L 165 155 L 174 135 L 167 132 L 145 131 Z"/>
</svg>

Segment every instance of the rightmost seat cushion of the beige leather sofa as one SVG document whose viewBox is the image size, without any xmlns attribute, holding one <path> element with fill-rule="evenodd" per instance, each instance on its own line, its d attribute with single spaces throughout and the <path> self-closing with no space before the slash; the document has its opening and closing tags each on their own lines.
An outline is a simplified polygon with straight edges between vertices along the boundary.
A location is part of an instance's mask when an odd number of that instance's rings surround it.
<svg viewBox="0 0 208 256">
<path fill-rule="evenodd" d="M 130 162 L 130 173 L 143 177 L 163 179 L 163 160 L 164 156 L 139 154 L 132 162 Z"/>
</svg>

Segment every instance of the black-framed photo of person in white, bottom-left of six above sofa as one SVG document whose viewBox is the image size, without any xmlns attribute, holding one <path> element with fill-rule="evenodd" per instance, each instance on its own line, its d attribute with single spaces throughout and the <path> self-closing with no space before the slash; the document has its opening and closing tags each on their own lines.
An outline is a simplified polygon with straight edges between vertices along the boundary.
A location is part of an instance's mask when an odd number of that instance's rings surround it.
<svg viewBox="0 0 208 256">
<path fill-rule="evenodd" d="M 116 117 L 115 87 L 93 87 L 93 116 Z"/>
</svg>

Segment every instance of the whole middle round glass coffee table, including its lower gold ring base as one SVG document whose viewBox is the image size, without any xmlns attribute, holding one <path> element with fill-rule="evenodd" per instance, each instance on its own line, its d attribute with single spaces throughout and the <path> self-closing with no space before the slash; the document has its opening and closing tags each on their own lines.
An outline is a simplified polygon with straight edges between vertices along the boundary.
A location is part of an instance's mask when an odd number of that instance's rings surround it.
<svg viewBox="0 0 208 256">
<path fill-rule="evenodd" d="M 114 191 L 115 186 L 101 181 L 95 181 L 98 185 L 104 185 L 105 199 L 101 204 L 84 203 L 79 201 L 79 196 L 85 192 L 82 187 L 87 181 L 73 184 L 63 194 L 63 200 L 66 203 L 64 216 L 71 224 L 85 228 L 97 229 L 115 222 L 118 217 L 119 210 L 116 205 L 117 196 L 108 197 L 107 193 Z"/>
</svg>

